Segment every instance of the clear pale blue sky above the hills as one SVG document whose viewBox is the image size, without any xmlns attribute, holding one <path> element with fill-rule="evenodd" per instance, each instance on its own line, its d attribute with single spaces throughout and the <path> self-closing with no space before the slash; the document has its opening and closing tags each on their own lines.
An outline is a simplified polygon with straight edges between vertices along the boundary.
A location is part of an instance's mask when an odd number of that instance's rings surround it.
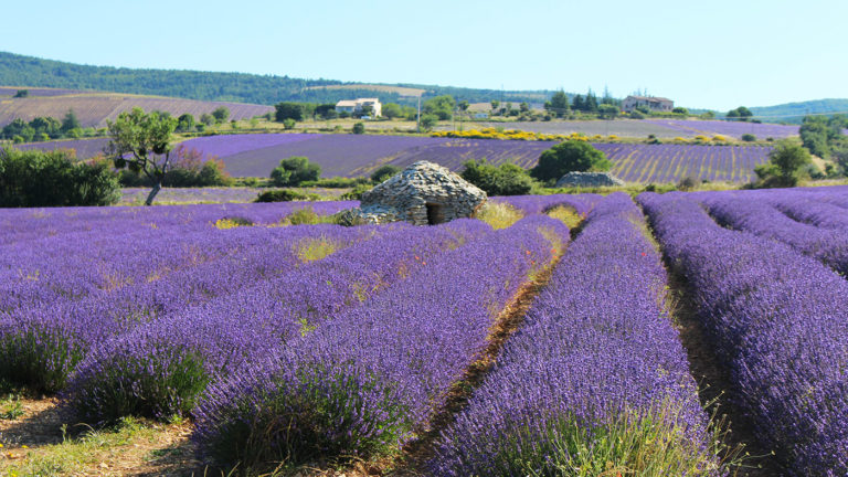
<svg viewBox="0 0 848 477">
<path fill-rule="evenodd" d="M 0 19 L 0 50 L 92 65 L 606 86 L 720 110 L 848 97 L 845 0 L 46 0 Z"/>
</svg>

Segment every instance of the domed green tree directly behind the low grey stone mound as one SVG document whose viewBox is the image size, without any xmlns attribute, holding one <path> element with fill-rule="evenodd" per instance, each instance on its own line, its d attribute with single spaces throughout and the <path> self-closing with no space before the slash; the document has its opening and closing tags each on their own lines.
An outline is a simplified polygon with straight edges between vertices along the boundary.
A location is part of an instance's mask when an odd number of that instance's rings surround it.
<svg viewBox="0 0 848 477">
<path fill-rule="evenodd" d="M 605 171 L 613 166 L 606 156 L 579 140 L 568 140 L 542 152 L 530 176 L 545 182 L 555 182 L 569 172 Z"/>
</svg>

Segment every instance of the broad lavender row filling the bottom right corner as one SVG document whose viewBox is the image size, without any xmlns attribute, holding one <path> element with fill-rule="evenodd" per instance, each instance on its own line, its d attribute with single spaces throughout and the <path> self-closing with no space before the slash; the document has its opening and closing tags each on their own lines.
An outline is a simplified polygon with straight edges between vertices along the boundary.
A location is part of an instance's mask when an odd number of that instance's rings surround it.
<svg viewBox="0 0 848 477">
<path fill-rule="evenodd" d="M 848 473 L 848 282 L 786 245 L 720 227 L 682 194 L 638 201 L 757 438 L 787 474 Z"/>
</svg>

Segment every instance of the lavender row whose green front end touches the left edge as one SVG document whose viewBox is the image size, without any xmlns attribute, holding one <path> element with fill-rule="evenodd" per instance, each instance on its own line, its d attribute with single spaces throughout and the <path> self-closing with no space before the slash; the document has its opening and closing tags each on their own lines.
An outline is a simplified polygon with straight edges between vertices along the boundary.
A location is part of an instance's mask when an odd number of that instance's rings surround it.
<svg viewBox="0 0 848 477">
<path fill-rule="evenodd" d="M 110 336 L 229 293 L 231 286 L 289 272 L 303 262 L 304 246 L 331 241 L 343 247 L 368 235 L 365 229 L 329 225 L 216 232 L 210 245 L 215 235 L 229 236 L 222 258 L 128 285 L 119 294 L 102 290 L 80 300 L 35 300 L 0 317 L 0 378 L 39 391 L 61 390 L 88 350 Z"/>
</svg>

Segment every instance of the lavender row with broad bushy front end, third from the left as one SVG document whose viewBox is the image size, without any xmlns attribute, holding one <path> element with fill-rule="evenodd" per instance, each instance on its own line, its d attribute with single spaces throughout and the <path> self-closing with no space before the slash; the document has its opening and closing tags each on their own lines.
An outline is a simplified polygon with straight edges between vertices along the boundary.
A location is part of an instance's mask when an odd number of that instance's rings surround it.
<svg viewBox="0 0 848 477">
<path fill-rule="evenodd" d="M 194 438 L 219 465 L 396 451 L 479 357 L 495 317 L 568 230 L 533 216 L 434 257 L 278 354 L 210 390 Z"/>
</svg>

